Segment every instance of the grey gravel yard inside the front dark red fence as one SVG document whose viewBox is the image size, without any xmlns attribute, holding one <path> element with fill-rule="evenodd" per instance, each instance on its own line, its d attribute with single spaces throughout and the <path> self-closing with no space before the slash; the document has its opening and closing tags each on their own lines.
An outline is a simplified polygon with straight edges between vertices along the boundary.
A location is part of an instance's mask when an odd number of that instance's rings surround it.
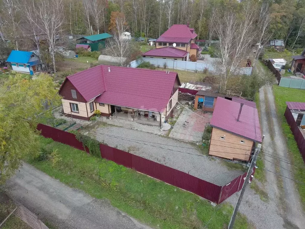
<svg viewBox="0 0 305 229">
<path fill-rule="evenodd" d="M 92 128 L 89 129 L 87 126 L 82 131 L 87 132 L 86 129 L 91 130 Z M 231 180 L 244 173 L 243 171 L 228 170 L 228 167 L 223 165 L 220 160 L 207 158 L 194 148 L 196 147 L 194 144 L 110 125 L 102 128 L 98 127 L 92 131 L 97 134 L 92 132 L 88 134 L 96 136 L 97 140 L 105 142 L 109 146 L 129 151 L 132 154 L 167 165 L 220 186 L 228 184 Z"/>
</svg>

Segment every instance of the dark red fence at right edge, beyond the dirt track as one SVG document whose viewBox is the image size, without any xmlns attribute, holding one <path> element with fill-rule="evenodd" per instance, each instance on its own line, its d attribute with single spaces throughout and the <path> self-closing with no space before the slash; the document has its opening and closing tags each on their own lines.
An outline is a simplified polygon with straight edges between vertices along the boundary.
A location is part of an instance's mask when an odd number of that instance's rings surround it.
<svg viewBox="0 0 305 229">
<path fill-rule="evenodd" d="M 303 161 L 305 162 L 305 139 L 303 134 L 301 133 L 300 128 L 296 125 L 296 121 L 294 120 L 292 113 L 288 107 L 286 107 L 285 118 L 287 120 L 288 125 L 293 133 L 294 139 L 296 140 L 296 144 L 299 147 L 300 153 L 302 155 Z"/>
</svg>

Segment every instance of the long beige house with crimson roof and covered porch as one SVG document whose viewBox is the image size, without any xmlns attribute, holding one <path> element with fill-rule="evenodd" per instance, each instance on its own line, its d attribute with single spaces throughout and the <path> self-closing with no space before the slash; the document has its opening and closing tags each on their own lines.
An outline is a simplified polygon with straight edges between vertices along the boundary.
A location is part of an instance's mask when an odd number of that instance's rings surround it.
<svg viewBox="0 0 305 229">
<path fill-rule="evenodd" d="M 66 116 L 89 120 L 95 110 L 152 118 L 168 118 L 178 101 L 178 74 L 130 67 L 98 65 L 66 77 L 59 89 Z"/>
</svg>

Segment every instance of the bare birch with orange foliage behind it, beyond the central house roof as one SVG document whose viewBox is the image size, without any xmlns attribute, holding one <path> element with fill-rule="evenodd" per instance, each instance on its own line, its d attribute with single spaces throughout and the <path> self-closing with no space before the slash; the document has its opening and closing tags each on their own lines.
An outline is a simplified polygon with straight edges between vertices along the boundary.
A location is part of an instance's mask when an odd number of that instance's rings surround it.
<svg viewBox="0 0 305 229">
<path fill-rule="evenodd" d="M 115 13 L 115 14 L 114 14 Z M 115 18 L 113 18 L 115 15 Z M 120 57 L 121 66 L 124 65 L 124 57 L 128 57 L 131 53 L 131 41 L 121 39 L 121 35 L 128 29 L 128 24 L 124 13 L 112 12 L 111 21 L 114 20 L 114 25 L 109 27 L 110 33 L 113 36 L 107 45 L 108 52 L 111 56 Z"/>
</svg>

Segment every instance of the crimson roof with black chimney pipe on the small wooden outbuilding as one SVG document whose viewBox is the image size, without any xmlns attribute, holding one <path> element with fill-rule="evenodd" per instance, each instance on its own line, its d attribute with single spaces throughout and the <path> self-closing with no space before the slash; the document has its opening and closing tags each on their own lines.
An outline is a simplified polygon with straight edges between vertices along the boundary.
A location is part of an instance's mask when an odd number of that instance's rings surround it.
<svg viewBox="0 0 305 229">
<path fill-rule="evenodd" d="M 237 122 L 240 103 L 217 97 L 210 125 L 253 141 L 262 142 L 257 109 L 244 104 Z"/>
</svg>

